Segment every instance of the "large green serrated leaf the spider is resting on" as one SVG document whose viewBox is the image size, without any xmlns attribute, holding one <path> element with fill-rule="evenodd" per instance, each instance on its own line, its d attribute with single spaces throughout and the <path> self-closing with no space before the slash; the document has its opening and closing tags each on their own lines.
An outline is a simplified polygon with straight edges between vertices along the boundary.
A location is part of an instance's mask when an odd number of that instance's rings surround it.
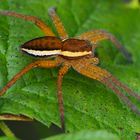
<svg viewBox="0 0 140 140">
<path fill-rule="evenodd" d="M 76 36 L 91 29 L 113 33 L 133 55 L 133 64 L 110 42 L 101 42 L 97 53 L 100 66 L 140 93 L 140 10 L 122 2 L 80 0 L 2 0 L 7 9 L 43 19 L 54 29 L 48 8 L 57 6 L 69 35 Z M 43 33 L 32 23 L 0 16 L 0 87 L 34 58 L 21 54 L 19 46 Z M 56 32 L 56 31 L 55 31 Z M 53 75 L 52 75 L 52 74 Z M 56 97 L 58 69 L 34 69 L 25 74 L 0 98 L 0 113 L 22 114 L 50 126 L 60 126 Z M 140 132 L 140 118 L 101 83 L 70 70 L 64 78 L 65 120 L 70 132 L 81 129 L 107 129 L 122 139 L 135 139 Z"/>
</svg>

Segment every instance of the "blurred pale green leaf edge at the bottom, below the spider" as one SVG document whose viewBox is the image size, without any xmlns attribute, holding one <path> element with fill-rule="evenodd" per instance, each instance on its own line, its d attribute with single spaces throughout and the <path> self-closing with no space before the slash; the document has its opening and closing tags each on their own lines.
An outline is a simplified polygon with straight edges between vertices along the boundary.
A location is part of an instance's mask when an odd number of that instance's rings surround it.
<svg viewBox="0 0 140 140">
<path fill-rule="evenodd" d="M 119 138 L 107 131 L 80 131 L 71 134 L 61 134 L 43 140 L 119 140 Z"/>
</svg>

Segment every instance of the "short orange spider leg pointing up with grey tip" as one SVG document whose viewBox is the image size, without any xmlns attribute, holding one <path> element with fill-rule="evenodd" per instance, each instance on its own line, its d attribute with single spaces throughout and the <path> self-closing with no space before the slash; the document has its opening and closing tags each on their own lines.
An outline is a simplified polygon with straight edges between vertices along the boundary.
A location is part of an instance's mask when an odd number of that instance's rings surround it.
<svg viewBox="0 0 140 140">
<path fill-rule="evenodd" d="M 60 35 L 61 39 L 68 38 L 68 34 L 59 18 L 59 16 L 56 14 L 56 9 L 54 7 L 49 9 L 49 15 L 57 29 L 58 34 Z"/>
</svg>

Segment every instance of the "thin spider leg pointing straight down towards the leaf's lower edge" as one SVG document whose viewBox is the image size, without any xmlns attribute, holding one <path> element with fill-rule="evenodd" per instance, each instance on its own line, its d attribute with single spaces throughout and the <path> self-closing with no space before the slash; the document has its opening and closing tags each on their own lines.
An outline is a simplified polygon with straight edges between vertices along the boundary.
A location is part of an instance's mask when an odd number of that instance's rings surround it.
<svg viewBox="0 0 140 140">
<path fill-rule="evenodd" d="M 70 66 L 64 65 L 60 68 L 57 79 L 57 97 L 58 97 L 58 105 L 60 111 L 60 119 L 61 119 L 61 128 L 65 131 L 65 121 L 64 121 L 64 105 L 63 105 L 63 95 L 62 95 L 62 81 L 64 75 L 68 72 Z"/>
</svg>

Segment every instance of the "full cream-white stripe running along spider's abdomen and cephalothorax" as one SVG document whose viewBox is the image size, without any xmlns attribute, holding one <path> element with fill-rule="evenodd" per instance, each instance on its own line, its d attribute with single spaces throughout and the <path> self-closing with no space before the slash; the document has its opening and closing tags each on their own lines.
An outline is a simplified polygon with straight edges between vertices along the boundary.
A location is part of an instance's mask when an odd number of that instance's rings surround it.
<svg viewBox="0 0 140 140">
<path fill-rule="evenodd" d="M 27 52 L 28 54 L 32 54 L 35 56 L 50 56 L 50 55 L 62 55 L 67 57 L 79 57 L 79 56 L 85 56 L 88 54 L 92 54 L 91 51 L 83 51 L 83 52 L 70 52 L 70 51 L 61 51 L 61 50 L 29 50 L 22 48 L 22 51 Z"/>
</svg>

